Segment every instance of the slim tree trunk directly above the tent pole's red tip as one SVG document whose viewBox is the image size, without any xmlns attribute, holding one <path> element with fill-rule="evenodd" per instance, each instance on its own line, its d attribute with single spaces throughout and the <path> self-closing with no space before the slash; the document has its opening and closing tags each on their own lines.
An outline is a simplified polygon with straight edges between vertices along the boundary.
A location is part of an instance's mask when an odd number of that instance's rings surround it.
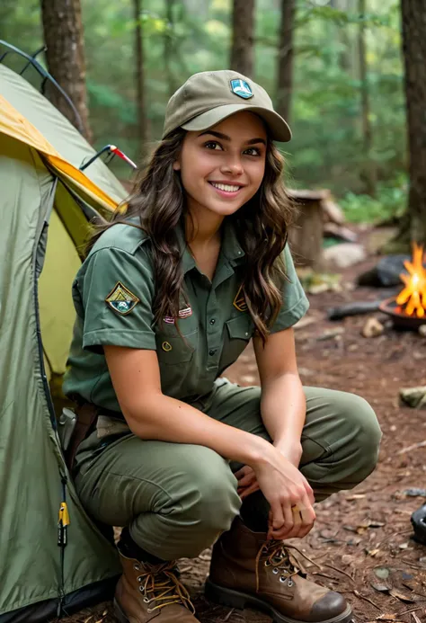
<svg viewBox="0 0 426 623">
<path fill-rule="evenodd" d="M 136 110 L 138 118 L 138 142 L 139 155 L 146 154 L 147 143 L 147 120 L 146 120 L 146 97 L 145 97 L 145 67 L 144 67 L 144 39 L 142 24 L 140 21 L 142 1 L 133 0 L 133 17 L 135 20 L 135 82 L 136 82 Z"/>
</svg>

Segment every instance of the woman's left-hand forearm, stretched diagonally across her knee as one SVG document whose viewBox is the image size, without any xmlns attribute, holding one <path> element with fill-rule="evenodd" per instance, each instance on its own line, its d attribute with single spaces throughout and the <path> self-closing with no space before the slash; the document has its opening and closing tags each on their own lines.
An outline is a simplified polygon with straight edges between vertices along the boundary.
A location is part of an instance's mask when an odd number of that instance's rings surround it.
<svg viewBox="0 0 426 623">
<path fill-rule="evenodd" d="M 271 445 L 250 432 L 217 422 L 191 405 L 164 394 L 154 394 L 140 410 L 123 408 L 129 427 L 146 440 L 206 446 L 224 458 L 257 465 L 271 452 Z"/>
</svg>

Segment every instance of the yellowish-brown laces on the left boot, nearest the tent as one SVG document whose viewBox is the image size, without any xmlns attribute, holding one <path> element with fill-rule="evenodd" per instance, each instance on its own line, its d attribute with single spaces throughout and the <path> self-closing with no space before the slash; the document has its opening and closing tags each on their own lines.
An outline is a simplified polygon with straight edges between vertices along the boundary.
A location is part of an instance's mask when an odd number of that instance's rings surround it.
<svg viewBox="0 0 426 623">
<path fill-rule="evenodd" d="M 140 572 L 139 591 L 144 595 L 145 603 L 155 604 L 147 609 L 149 613 L 173 603 L 180 603 L 195 614 L 190 593 L 176 577 L 176 565 L 173 561 L 161 565 L 145 563 L 143 566 L 135 563 L 133 567 Z"/>
</svg>

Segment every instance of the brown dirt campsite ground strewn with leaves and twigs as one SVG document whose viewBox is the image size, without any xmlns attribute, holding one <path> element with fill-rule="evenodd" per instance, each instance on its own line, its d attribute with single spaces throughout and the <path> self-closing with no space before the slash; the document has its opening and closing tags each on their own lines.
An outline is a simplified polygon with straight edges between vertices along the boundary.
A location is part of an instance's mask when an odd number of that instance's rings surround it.
<svg viewBox="0 0 426 623">
<path fill-rule="evenodd" d="M 371 242 L 372 237 L 368 236 Z M 351 284 L 377 257 L 342 271 L 343 289 L 309 295 L 311 324 L 296 329 L 297 360 L 305 385 L 331 387 L 365 397 L 376 410 L 383 441 L 376 471 L 355 489 L 316 504 L 314 530 L 295 544 L 321 568 L 310 567 L 316 582 L 342 592 L 351 602 L 356 623 L 373 620 L 426 621 L 426 547 L 411 538 L 410 516 L 426 493 L 426 412 L 401 406 L 401 387 L 426 384 L 426 337 L 396 332 L 360 334 L 368 316 L 339 322 L 326 318 L 328 307 L 354 300 L 375 300 L 380 290 Z M 377 312 L 381 321 L 386 316 Z M 226 376 L 240 385 L 258 383 L 251 346 Z M 416 447 L 417 444 L 417 447 Z M 426 442 L 425 442 L 426 444 Z M 408 491 L 423 488 L 423 492 Z M 415 494 L 420 495 L 415 495 Z M 423 494 L 423 496 L 422 496 Z M 253 610 L 230 610 L 209 604 L 202 585 L 209 551 L 181 563 L 182 581 L 194 598 L 200 623 L 267 623 Z M 71 623 L 112 623 L 111 604 L 84 610 Z"/>
</svg>

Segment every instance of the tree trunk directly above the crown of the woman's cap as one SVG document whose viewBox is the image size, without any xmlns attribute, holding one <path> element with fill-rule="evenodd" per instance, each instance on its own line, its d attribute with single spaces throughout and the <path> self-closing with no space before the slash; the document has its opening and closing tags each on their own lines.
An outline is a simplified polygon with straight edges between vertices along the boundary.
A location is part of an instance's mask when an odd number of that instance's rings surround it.
<svg viewBox="0 0 426 623">
<path fill-rule="evenodd" d="M 234 0 L 231 69 L 253 77 L 254 0 Z"/>
</svg>

